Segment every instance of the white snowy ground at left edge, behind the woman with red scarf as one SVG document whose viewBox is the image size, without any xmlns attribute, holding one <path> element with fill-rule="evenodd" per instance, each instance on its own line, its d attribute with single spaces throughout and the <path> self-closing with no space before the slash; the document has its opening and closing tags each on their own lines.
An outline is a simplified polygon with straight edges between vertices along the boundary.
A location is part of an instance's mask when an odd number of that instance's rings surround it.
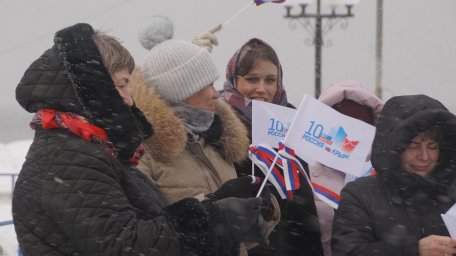
<svg viewBox="0 0 456 256">
<path fill-rule="evenodd" d="M 7 144 L 0 143 L 0 223 L 12 220 L 13 181 L 12 177 L 6 174 L 19 172 L 31 142 L 31 140 L 21 140 Z M 18 255 L 18 244 L 12 224 L 0 226 L 0 246 L 3 249 L 3 254 L 0 253 L 0 255 Z"/>
</svg>

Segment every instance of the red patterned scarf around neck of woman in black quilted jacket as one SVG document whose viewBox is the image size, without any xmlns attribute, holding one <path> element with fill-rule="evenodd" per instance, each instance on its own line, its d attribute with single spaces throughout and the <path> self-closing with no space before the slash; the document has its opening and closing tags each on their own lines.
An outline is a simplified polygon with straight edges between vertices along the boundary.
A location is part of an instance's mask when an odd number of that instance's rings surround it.
<svg viewBox="0 0 456 256">
<path fill-rule="evenodd" d="M 106 132 L 93 124 L 87 123 L 85 118 L 78 114 L 60 112 L 55 109 L 41 109 L 33 117 L 30 127 L 35 129 L 37 125 L 41 125 L 44 129 L 68 129 L 85 141 L 102 145 L 111 156 L 118 157 L 115 145 L 108 140 Z M 128 159 L 128 162 L 137 165 L 143 154 L 144 146 L 140 144 L 133 156 Z"/>
</svg>

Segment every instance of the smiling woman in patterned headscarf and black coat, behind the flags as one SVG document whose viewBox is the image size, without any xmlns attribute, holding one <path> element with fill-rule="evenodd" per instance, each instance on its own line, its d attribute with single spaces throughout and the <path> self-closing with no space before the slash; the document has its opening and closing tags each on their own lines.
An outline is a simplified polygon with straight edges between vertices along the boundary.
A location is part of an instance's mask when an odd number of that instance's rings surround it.
<svg viewBox="0 0 456 256">
<path fill-rule="evenodd" d="M 250 140 L 252 100 L 294 108 L 287 100 L 282 84 L 282 67 L 276 52 L 258 38 L 247 41 L 229 60 L 221 95 L 247 126 Z M 304 162 L 303 165 L 307 167 Z M 239 164 L 236 171 L 239 176 L 249 175 L 251 166 L 250 160 L 247 160 Z M 259 170 L 255 174 L 264 176 Z M 279 200 L 282 216 L 270 235 L 269 248 L 254 248 L 249 255 L 323 254 L 312 190 L 304 177 L 299 179 L 301 186 L 293 192 L 293 200 Z M 273 192 L 280 198 L 275 190 Z"/>
</svg>

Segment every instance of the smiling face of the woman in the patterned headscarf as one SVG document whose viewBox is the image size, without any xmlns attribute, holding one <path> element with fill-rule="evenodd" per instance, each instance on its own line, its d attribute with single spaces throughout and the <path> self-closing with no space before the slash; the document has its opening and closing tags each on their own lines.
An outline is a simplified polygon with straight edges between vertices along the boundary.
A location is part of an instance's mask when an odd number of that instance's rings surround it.
<svg viewBox="0 0 456 256">
<path fill-rule="evenodd" d="M 238 76 L 236 87 L 242 96 L 271 103 L 277 92 L 279 69 L 269 60 L 256 60 L 252 69 Z"/>
</svg>

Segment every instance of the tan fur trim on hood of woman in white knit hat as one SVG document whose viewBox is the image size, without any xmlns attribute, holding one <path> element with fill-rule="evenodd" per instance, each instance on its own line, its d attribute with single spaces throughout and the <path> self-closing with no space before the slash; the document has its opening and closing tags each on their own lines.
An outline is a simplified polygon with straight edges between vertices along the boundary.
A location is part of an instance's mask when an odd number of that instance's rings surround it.
<svg viewBox="0 0 456 256">
<path fill-rule="evenodd" d="M 170 163 L 185 150 L 188 138 L 184 121 L 148 85 L 139 68 L 133 72 L 130 83 L 136 105 L 154 127 L 154 136 L 145 144 L 156 161 Z M 235 163 L 245 160 L 249 138 L 244 124 L 221 98 L 217 101 L 215 113 L 222 121 L 223 130 L 218 144 L 223 158 Z"/>
</svg>

